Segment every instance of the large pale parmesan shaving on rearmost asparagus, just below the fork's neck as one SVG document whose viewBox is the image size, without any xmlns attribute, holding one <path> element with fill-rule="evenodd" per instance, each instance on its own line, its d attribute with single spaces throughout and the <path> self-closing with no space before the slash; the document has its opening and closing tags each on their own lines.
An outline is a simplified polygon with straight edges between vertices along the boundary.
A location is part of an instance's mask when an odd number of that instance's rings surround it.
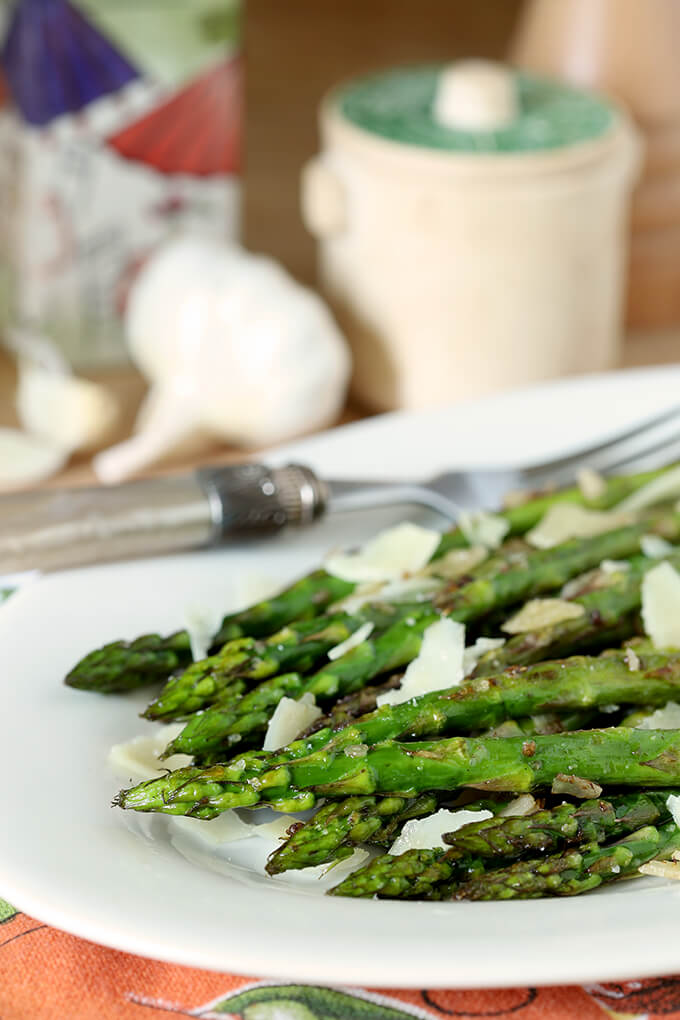
<svg viewBox="0 0 680 1020">
<path fill-rule="evenodd" d="M 381 531 L 355 553 L 329 556 L 324 566 L 343 580 L 396 580 L 422 570 L 440 541 L 438 531 L 407 522 Z"/>
</svg>

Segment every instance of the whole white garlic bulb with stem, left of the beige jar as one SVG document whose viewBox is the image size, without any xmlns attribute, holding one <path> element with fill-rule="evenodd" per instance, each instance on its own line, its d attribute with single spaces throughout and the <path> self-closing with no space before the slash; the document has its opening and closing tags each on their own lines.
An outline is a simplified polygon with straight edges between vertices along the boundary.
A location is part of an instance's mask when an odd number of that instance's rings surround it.
<svg viewBox="0 0 680 1020">
<path fill-rule="evenodd" d="M 191 437 L 266 447 L 338 414 L 346 342 L 325 305 L 276 262 L 184 238 L 159 249 L 130 292 L 127 342 L 151 382 L 139 431 L 94 467 L 116 481 Z"/>
</svg>

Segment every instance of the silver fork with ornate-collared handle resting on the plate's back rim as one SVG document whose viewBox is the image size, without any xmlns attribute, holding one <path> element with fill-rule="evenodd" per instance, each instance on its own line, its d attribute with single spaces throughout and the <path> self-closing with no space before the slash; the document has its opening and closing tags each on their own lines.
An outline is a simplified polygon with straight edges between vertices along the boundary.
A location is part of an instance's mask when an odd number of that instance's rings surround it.
<svg viewBox="0 0 680 1020">
<path fill-rule="evenodd" d="M 50 570 L 261 537 L 324 514 L 418 505 L 455 521 L 496 509 L 505 494 L 680 459 L 680 405 L 563 457 L 516 468 L 453 470 L 423 481 L 333 479 L 309 466 L 236 464 L 119 486 L 0 499 L 0 571 Z"/>
</svg>

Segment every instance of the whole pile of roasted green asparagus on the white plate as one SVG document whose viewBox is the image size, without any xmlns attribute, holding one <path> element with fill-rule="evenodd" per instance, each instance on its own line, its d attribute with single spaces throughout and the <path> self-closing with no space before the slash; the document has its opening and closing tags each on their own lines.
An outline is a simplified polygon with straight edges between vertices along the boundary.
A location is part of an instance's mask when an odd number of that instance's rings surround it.
<svg viewBox="0 0 680 1020">
<path fill-rule="evenodd" d="M 377 856 L 337 896 L 574 895 L 673 859 L 680 830 L 668 803 L 680 793 L 680 730 L 634 725 L 680 701 L 680 650 L 655 648 L 640 621 L 642 579 L 659 563 L 643 555 L 644 538 L 670 543 L 663 558 L 680 569 L 680 511 L 647 507 L 550 549 L 523 538 L 556 504 L 606 510 L 661 474 L 610 478 L 594 499 L 578 488 L 527 499 L 501 514 L 503 545 L 458 574 L 452 554 L 468 543 L 454 528 L 410 598 L 385 601 L 378 591 L 353 605 L 356 585 L 319 569 L 226 616 L 202 661 L 192 662 L 186 631 L 86 656 L 68 684 L 108 693 L 163 681 L 144 715 L 184 721 L 165 754 L 194 761 L 115 803 L 202 819 L 231 808 L 316 808 L 292 824 L 267 870 L 372 848 Z M 519 607 L 546 596 L 579 608 L 482 654 L 462 683 L 448 686 L 442 675 L 441 690 L 377 707 L 433 623 L 460 621 L 468 641 L 498 638 Z M 369 636 L 329 661 L 365 624 Z M 325 716 L 286 747 L 262 750 L 281 699 L 306 694 Z M 446 848 L 385 852 L 408 822 L 461 804 L 491 817 L 448 833 Z"/>
</svg>

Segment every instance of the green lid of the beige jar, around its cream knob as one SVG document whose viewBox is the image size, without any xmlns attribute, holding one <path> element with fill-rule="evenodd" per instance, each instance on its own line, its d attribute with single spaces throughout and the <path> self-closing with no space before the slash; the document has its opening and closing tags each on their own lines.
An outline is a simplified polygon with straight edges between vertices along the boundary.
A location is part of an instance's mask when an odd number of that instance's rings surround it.
<svg viewBox="0 0 680 1020">
<path fill-rule="evenodd" d="M 562 82 L 508 68 L 517 116 L 495 130 L 448 126 L 433 108 L 452 64 L 399 68 L 355 79 L 333 95 L 335 109 L 356 128 L 402 145 L 451 152 L 537 152 L 592 142 L 612 126 L 606 100 Z"/>
</svg>

